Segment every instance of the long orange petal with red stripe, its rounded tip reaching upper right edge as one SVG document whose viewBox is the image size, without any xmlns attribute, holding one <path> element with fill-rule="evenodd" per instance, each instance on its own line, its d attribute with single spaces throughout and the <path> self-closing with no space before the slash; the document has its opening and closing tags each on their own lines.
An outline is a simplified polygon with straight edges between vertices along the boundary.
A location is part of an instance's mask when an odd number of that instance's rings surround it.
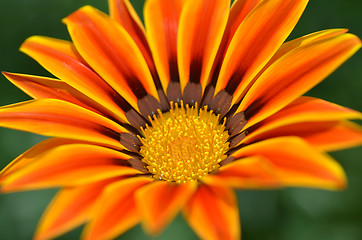
<svg viewBox="0 0 362 240">
<path fill-rule="evenodd" d="M 271 116 L 314 87 L 361 47 L 352 34 L 313 41 L 285 54 L 250 88 L 238 111 L 246 111 L 245 128 Z"/>
</svg>

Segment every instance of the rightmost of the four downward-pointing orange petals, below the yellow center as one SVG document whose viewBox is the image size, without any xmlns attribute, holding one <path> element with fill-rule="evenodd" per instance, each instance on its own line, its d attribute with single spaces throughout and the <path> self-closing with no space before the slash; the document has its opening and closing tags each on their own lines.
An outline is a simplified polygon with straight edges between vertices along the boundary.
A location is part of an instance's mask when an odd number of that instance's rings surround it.
<svg viewBox="0 0 362 240">
<path fill-rule="evenodd" d="M 185 206 L 184 216 L 201 239 L 240 239 L 238 205 L 229 188 L 199 186 Z"/>
</svg>

